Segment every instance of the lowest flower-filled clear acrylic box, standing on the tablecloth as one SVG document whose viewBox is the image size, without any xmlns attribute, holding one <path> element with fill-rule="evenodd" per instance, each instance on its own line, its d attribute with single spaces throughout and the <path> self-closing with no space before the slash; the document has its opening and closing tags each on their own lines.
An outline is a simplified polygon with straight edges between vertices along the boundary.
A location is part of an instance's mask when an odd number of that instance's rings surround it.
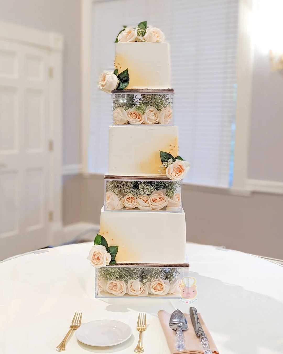
<svg viewBox="0 0 283 354">
<path fill-rule="evenodd" d="M 95 297 L 190 298 L 189 264 L 116 263 L 96 269 Z"/>
</svg>

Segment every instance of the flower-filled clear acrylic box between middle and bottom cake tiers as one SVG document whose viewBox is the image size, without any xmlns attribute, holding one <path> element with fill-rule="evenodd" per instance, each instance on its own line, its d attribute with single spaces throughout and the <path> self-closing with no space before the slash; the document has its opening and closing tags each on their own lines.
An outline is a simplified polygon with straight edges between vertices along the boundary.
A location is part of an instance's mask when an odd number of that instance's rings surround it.
<svg viewBox="0 0 283 354">
<path fill-rule="evenodd" d="M 181 181 L 168 177 L 105 177 L 105 211 L 181 212 Z"/>
</svg>

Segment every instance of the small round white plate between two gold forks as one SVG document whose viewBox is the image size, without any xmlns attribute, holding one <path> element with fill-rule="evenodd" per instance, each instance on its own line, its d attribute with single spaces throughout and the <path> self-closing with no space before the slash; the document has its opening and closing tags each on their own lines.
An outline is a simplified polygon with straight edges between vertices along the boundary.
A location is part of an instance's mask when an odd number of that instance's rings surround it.
<svg viewBox="0 0 283 354">
<path fill-rule="evenodd" d="M 96 347 L 116 346 L 131 335 L 132 330 L 126 323 L 114 320 L 87 322 L 76 330 L 76 337 L 80 342 Z"/>
</svg>

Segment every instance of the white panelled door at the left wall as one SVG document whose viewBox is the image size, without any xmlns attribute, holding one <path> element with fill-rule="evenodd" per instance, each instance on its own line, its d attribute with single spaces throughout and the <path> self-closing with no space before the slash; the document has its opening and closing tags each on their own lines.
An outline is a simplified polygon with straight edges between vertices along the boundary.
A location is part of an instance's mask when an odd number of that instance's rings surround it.
<svg viewBox="0 0 283 354">
<path fill-rule="evenodd" d="M 0 260 L 49 244 L 49 60 L 0 40 Z"/>
</svg>

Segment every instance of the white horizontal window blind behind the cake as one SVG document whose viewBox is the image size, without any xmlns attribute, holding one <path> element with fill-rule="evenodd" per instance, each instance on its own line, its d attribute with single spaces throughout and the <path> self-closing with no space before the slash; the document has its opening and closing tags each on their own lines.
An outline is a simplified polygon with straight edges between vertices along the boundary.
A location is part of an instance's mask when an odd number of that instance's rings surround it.
<svg viewBox="0 0 283 354">
<path fill-rule="evenodd" d="M 186 182 L 228 187 L 231 182 L 236 95 L 238 0 L 95 1 L 92 13 L 92 105 L 89 170 L 107 172 L 111 95 L 97 89 L 113 70 L 114 40 L 122 25 L 148 21 L 171 45 L 174 119 Z"/>
</svg>

